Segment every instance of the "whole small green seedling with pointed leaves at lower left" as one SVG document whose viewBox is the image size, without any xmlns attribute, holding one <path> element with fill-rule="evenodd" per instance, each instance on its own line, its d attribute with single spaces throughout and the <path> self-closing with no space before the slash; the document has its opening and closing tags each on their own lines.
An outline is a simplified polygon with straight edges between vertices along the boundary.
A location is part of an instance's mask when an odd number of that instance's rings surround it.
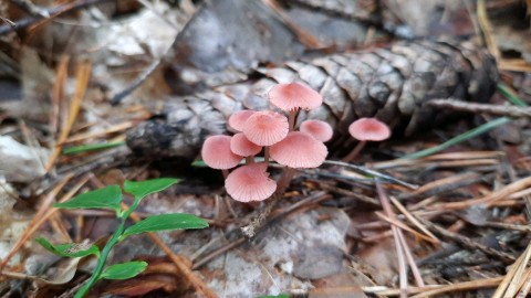
<svg viewBox="0 0 531 298">
<path fill-rule="evenodd" d="M 91 278 L 79 289 L 74 296 L 75 298 L 84 297 L 100 279 L 133 278 L 147 267 L 146 262 L 126 262 L 105 267 L 105 262 L 113 247 L 127 236 L 146 232 L 204 228 L 208 226 L 205 220 L 195 215 L 173 213 L 148 216 L 132 226 L 125 227 L 127 217 L 137 209 L 144 198 L 148 194 L 163 191 L 177 182 L 177 179 L 167 178 L 142 182 L 125 181 L 123 191 L 133 194 L 135 198 L 133 204 L 127 210 L 122 210 L 121 207 L 123 193 L 118 185 L 110 185 L 100 190 L 90 191 L 67 202 L 54 204 L 55 207 L 60 209 L 111 209 L 116 212 L 116 217 L 119 221 L 118 227 L 114 231 L 111 240 L 102 251 L 94 244 L 71 243 L 53 245 L 44 238 L 35 238 L 45 249 L 59 256 L 84 257 L 94 255 L 97 258 L 97 264 Z"/>
</svg>

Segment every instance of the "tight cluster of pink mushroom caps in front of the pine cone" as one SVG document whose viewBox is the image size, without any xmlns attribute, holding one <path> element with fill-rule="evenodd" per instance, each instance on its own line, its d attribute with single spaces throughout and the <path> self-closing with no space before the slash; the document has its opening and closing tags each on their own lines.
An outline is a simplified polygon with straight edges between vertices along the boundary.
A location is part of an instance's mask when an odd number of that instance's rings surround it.
<svg viewBox="0 0 531 298">
<path fill-rule="evenodd" d="M 305 120 L 295 127 L 299 110 L 322 105 L 317 92 L 301 83 L 278 84 L 270 89 L 269 100 L 275 110 L 236 111 L 227 121 L 235 135 L 210 136 L 202 145 L 202 160 L 223 171 L 227 193 L 240 202 L 262 201 L 274 193 L 270 159 L 292 169 L 316 168 L 329 153 L 323 142 L 332 138 L 333 130 L 327 123 Z M 262 151 L 263 162 L 256 162 Z M 246 163 L 238 167 L 242 159 Z"/>
</svg>

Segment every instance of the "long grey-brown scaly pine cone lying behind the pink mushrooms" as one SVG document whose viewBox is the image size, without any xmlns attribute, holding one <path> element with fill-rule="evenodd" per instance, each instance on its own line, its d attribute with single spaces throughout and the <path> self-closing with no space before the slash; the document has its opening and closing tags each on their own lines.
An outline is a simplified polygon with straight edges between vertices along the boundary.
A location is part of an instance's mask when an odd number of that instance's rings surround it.
<svg viewBox="0 0 531 298">
<path fill-rule="evenodd" d="M 268 107 L 267 93 L 278 83 L 302 81 L 319 91 L 324 105 L 300 114 L 298 121 L 321 119 L 334 127 L 332 149 L 360 117 L 377 117 L 410 135 L 433 127 L 446 113 L 425 102 L 460 98 L 485 102 L 498 73 L 487 51 L 470 43 L 398 42 L 387 49 L 321 56 L 259 68 L 253 79 L 166 102 L 162 115 L 129 131 L 127 145 L 150 157 L 195 158 L 209 135 L 226 134 L 226 119 L 243 108 Z M 398 134 L 395 134 L 397 136 Z"/>
</svg>

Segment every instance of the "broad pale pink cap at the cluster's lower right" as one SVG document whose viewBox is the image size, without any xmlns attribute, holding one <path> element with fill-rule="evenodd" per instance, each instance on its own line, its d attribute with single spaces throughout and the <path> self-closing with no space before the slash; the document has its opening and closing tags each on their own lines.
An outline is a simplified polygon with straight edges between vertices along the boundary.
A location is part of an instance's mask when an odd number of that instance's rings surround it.
<svg viewBox="0 0 531 298">
<path fill-rule="evenodd" d="M 271 146 L 271 158 L 290 168 L 316 168 L 326 159 L 329 150 L 323 142 L 302 131 L 292 131 Z"/>
</svg>

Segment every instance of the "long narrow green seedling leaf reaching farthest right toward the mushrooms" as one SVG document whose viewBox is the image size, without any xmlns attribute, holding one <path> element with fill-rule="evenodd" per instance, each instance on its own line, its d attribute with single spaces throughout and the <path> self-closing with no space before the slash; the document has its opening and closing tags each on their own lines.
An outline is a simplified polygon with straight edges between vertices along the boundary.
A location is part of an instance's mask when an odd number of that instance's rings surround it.
<svg viewBox="0 0 531 298">
<path fill-rule="evenodd" d="M 145 232 L 159 232 L 168 230 L 188 230 L 188 228 L 204 228 L 208 223 L 191 214 L 159 214 L 149 216 L 136 224 L 127 227 L 123 237 L 128 235 L 140 234 Z"/>
</svg>

